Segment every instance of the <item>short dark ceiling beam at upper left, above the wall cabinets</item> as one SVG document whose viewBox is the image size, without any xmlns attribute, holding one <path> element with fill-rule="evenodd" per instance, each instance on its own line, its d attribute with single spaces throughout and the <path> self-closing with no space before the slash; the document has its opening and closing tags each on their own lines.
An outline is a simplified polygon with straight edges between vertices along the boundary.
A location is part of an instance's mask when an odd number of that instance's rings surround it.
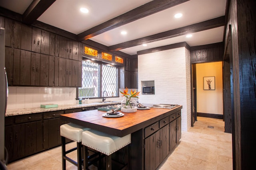
<svg viewBox="0 0 256 170">
<path fill-rule="evenodd" d="M 32 24 L 36 21 L 56 0 L 33 0 L 22 15 L 22 21 Z"/>
</svg>

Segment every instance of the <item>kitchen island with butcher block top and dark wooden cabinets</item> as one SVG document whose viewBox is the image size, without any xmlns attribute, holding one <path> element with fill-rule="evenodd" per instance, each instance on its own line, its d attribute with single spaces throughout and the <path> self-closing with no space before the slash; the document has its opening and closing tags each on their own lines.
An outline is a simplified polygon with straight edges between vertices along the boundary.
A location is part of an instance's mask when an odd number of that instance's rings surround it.
<svg viewBox="0 0 256 170">
<path fill-rule="evenodd" d="M 91 110 L 60 119 L 118 137 L 132 134 L 130 169 L 156 169 L 181 137 L 181 109 L 151 108 L 122 117 L 103 117 L 104 111 Z"/>
</svg>

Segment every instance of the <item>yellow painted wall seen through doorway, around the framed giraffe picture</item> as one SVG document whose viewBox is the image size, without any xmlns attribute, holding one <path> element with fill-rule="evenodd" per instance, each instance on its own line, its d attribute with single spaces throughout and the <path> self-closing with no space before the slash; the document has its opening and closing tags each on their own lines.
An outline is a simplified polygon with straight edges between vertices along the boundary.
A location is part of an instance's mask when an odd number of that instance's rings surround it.
<svg viewBox="0 0 256 170">
<path fill-rule="evenodd" d="M 212 76 L 215 76 L 215 90 L 204 90 L 204 77 Z M 196 64 L 196 88 L 197 112 L 222 115 L 222 62 Z"/>
</svg>

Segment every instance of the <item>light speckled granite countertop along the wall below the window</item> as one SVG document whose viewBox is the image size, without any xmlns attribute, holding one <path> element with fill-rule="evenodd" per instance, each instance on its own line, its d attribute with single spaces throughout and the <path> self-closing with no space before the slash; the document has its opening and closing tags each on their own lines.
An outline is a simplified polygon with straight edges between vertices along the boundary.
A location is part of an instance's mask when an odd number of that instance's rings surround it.
<svg viewBox="0 0 256 170">
<path fill-rule="evenodd" d="M 30 114 L 30 113 L 42 113 L 47 111 L 58 111 L 58 110 L 75 109 L 75 108 L 81 108 L 81 107 L 101 106 L 101 105 L 108 105 L 108 104 L 109 105 L 120 104 L 120 102 L 111 102 L 111 103 L 93 102 L 89 104 L 59 105 L 58 107 L 52 107 L 52 108 L 33 107 L 33 108 L 25 108 L 25 109 L 10 109 L 10 110 L 6 110 L 5 116 L 23 115 L 23 114 Z"/>
</svg>

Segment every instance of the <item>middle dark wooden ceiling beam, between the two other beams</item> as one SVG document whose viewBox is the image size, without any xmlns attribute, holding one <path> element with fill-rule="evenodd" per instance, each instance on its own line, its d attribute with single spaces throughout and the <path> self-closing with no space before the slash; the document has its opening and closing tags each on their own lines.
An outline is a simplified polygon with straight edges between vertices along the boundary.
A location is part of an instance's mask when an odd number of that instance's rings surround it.
<svg viewBox="0 0 256 170">
<path fill-rule="evenodd" d="M 150 16 L 162 10 L 166 10 L 178 4 L 182 4 L 189 0 L 153 0 L 129 12 L 126 12 L 116 18 L 108 20 L 100 25 L 92 27 L 80 34 L 78 34 L 78 41 L 90 39 L 96 35 L 109 31 L 111 29 L 120 27 L 132 21 L 139 20 L 146 16 Z"/>
</svg>

